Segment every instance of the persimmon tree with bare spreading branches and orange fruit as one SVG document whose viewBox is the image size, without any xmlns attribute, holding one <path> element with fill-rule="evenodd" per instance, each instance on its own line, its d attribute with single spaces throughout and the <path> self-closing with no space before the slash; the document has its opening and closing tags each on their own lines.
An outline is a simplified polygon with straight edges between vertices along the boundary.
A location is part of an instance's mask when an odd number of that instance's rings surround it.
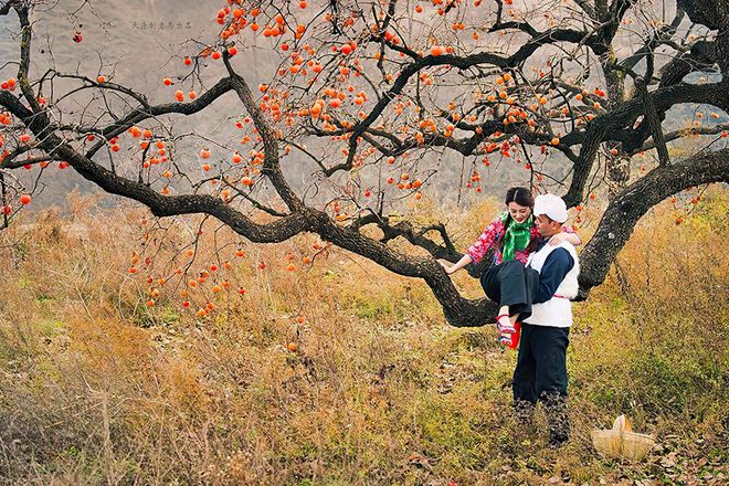
<svg viewBox="0 0 729 486">
<path fill-rule="evenodd" d="M 473 191 L 496 166 L 521 170 L 578 212 L 606 187 L 581 255 L 583 297 L 646 211 L 729 180 L 725 0 L 229 0 L 165 67 L 163 99 L 108 73 L 35 64 L 39 4 L 0 2 L 19 34 L 0 70 L 6 225 L 67 168 L 157 218 L 203 214 L 260 243 L 315 233 L 423 279 L 450 324 L 479 326 L 495 306 L 464 298 L 437 264 L 462 255 L 446 226 L 400 215 L 435 198 L 454 165 Z M 254 43 L 276 63 L 260 85 Z M 205 86 L 213 65 L 224 75 Z M 176 133 L 223 103 L 233 136 Z"/>
</svg>

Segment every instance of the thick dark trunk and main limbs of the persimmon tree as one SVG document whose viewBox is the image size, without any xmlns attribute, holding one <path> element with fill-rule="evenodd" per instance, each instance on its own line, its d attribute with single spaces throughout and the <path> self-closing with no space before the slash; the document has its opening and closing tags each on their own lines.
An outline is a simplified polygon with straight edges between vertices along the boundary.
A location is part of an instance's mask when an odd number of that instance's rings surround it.
<svg viewBox="0 0 729 486">
<path fill-rule="evenodd" d="M 563 150 L 570 159 L 573 169 L 570 188 L 564 197 L 568 204 L 575 205 L 582 201 L 585 186 L 594 172 L 595 158 L 603 144 L 609 144 L 609 146 L 610 144 L 620 145 L 622 147 L 621 152 L 626 156 L 609 158 L 610 202 L 594 236 L 581 254 L 581 296 L 585 297 L 590 288 L 600 285 L 604 281 L 612 262 L 630 239 L 635 224 L 649 208 L 684 189 L 702 183 L 729 180 L 729 149 L 725 148 L 714 152 L 699 151 L 687 160 L 672 163 L 668 160 L 667 149 L 662 141 L 663 136 L 659 131 L 663 115 L 670 107 L 678 104 L 707 104 L 729 112 L 729 82 L 726 77 L 729 73 L 729 9 L 726 8 L 726 0 L 701 2 L 678 0 L 678 4 L 686 10 L 694 22 L 702 23 L 709 29 L 719 31 L 716 42 L 702 44 L 701 49 L 696 49 L 696 52 L 691 52 L 690 55 L 678 60 L 676 63 L 668 63 L 668 67 L 676 70 L 677 74 L 672 77 L 670 72 L 663 73 L 662 84 L 658 88 L 647 92 L 647 86 L 643 86 L 644 89 L 640 96 L 626 99 L 624 74 L 612 68 L 615 59 L 611 44 L 623 14 L 634 3 L 632 0 L 614 0 L 610 6 L 608 2 L 598 2 L 594 9 L 584 3 L 587 11 L 600 18 L 600 24 L 592 33 L 573 29 L 553 29 L 547 32 L 537 32 L 527 22 L 500 22 L 499 20 L 498 25 L 494 25 L 494 30 L 518 29 L 530 35 L 528 42 L 506 57 L 489 52 L 476 52 L 463 56 L 456 54 L 421 56 L 405 46 L 391 44 L 392 50 L 400 51 L 403 56 L 408 56 L 411 61 L 403 64 L 402 71 L 389 91 L 379 96 L 378 103 L 370 113 L 361 122 L 356 123 L 351 130 L 342 133 L 342 135 L 350 136 L 350 151 L 347 160 L 334 165 L 329 169 L 324 168 L 324 175 L 330 176 L 338 173 L 340 170 L 350 169 L 357 145 L 362 140 L 367 141 L 368 137 L 371 139 L 372 136 L 380 136 L 379 133 L 384 131 L 385 135 L 381 136 L 391 142 L 395 144 L 395 141 L 392 141 L 393 139 L 399 142 L 393 134 L 387 134 L 387 130 L 371 127 L 376 120 L 380 119 L 385 107 L 406 89 L 411 78 L 418 78 L 418 75 L 423 71 L 441 67 L 466 71 L 485 65 L 509 70 L 522 65 L 539 47 L 552 42 L 585 45 L 602 59 L 608 81 L 609 98 L 604 113 L 600 112 L 588 124 L 587 129 L 572 130 L 558 139 L 558 148 Z M 252 242 L 274 243 L 285 241 L 303 232 L 316 233 L 335 245 L 364 256 L 399 275 L 422 278 L 443 306 L 444 315 L 451 325 L 458 327 L 482 326 L 493 321 L 492 319 L 497 310 L 496 304 L 487 299 L 466 299 L 461 296 L 451 278 L 435 261 L 434 256 L 446 256 L 448 258 L 457 256 L 457 252 L 450 244 L 444 228 L 433 228 L 441 231 L 444 236 L 445 243 L 440 245 L 427 240 L 424 232 L 415 230 L 411 224 L 389 226 L 382 221 L 377 221 L 378 224 L 382 224 L 381 228 L 385 231 L 387 237 L 385 241 L 376 241 L 360 233 L 361 225 L 339 225 L 326 212 L 308 207 L 303 202 L 281 170 L 279 140 L 274 129 L 275 125 L 272 125 L 264 117 L 257 104 L 258 102 L 254 99 L 244 77 L 233 71 L 226 52 L 223 53 L 223 61 L 229 71 L 229 76 L 220 80 L 193 102 L 151 106 L 142 95 L 120 87 L 123 93 L 139 103 L 138 107 L 134 107 L 124 116 L 115 117 L 115 122 L 106 127 L 62 127 L 51 122 L 52 108 L 41 107 L 36 102 L 36 95 L 31 89 L 31 82 L 28 78 L 31 53 L 28 6 L 20 1 L 7 2 L 0 8 L 0 14 L 8 13 L 10 6 L 19 11 L 22 27 L 18 80 L 22 96 L 17 97 L 9 91 L 0 89 L 0 106 L 10 112 L 22 122 L 27 129 L 35 135 L 38 141 L 34 150 L 52 155 L 55 160 L 66 160 L 85 179 L 96 183 L 107 192 L 147 205 L 158 216 L 190 213 L 210 214 Z M 699 61 L 698 64 L 695 63 L 696 60 Z M 725 77 L 721 82 L 702 85 L 690 85 L 682 82 L 683 77 L 689 72 L 705 68 L 715 62 L 719 64 L 723 73 Z M 647 71 L 652 72 L 652 68 Z M 651 76 L 646 75 L 646 77 Z M 664 81 L 666 82 L 664 83 Z M 93 82 L 91 86 L 96 87 Z M 266 224 L 256 223 L 221 198 L 210 194 L 162 196 L 151 186 L 144 183 L 141 179 L 131 180 L 120 177 L 114 170 L 108 170 L 102 163 L 93 160 L 95 154 L 106 147 L 109 138 L 125 133 L 133 125 L 160 115 L 198 113 L 209 107 L 212 102 L 229 91 L 234 91 L 237 94 L 241 104 L 251 115 L 255 128 L 262 137 L 265 152 L 262 173 L 268 179 L 276 194 L 288 210 L 287 214 L 279 216 L 277 220 Z M 23 97 L 25 102 L 22 101 Z M 646 118 L 649 123 L 644 123 L 638 129 L 634 130 L 635 120 L 641 115 L 645 115 L 646 109 L 652 115 Z M 472 129 L 476 135 L 463 140 L 448 138 L 444 141 L 447 137 L 434 134 L 434 140 L 441 146 L 454 148 L 464 155 L 474 155 L 482 142 L 496 131 L 506 130 L 507 135 L 520 134 L 519 131 L 508 131 L 517 128 L 507 128 L 498 119 L 484 119 L 478 126 L 459 123 L 458 128 Z M 477 131 L 476 128 L 482 131 Z M 488 133 L 485 130 L 488 130 Z M 75 148 L 74 137 L 66 137 L 67 133 L 73 134 L 75 138 L 81 135 L 82 139 L 85 139 L 89 133 L 102 134 L 103 136 L 99 137 L 102 140 L 91 146 L 91 148 L 81 146 Z M 326 134 L 327 137 L 331 135 L 330 133 Z M 530 134 L 525 133 L 524 139 L 529 144 L 540 146 L 548 141 L 545 136 L 545 134 L 540 135 L 535 130 Z M 642 149 L 644 142 L 651 136 L 653 136 L 656 145 L 661 145 L 662 163 L 631 186 L 627 186 L 630 180 L 630 158 L 627 158 L 627 155 Z M 374 147 L 374 144 L 371 145 Z M 402 147 L 403 145 L 400 146 L 400 148 Z M 579 155 L 572 151 L 577 147 L 579 147 Z M 13 160 L 18 155 L 23 154 L 22 147 L 18 150 L 20 150 L 18 154 L 2 161 L 2 170 L 22 166 L 23 160 L 20 158 Z M 398 235 L 426 249 L 431 252 L 431 256 L 410 256 L 388 246 L 387 241 Z"/>
</svg>

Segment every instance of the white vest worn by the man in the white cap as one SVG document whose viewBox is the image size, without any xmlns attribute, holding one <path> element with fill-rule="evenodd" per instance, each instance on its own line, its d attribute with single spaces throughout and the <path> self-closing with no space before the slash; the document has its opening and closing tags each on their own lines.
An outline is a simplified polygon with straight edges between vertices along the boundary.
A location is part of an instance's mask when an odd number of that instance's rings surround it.
<svg viewBox="0 0 729 486">
<path fill-rule="evenodd" d="M 562 242 L 557 246 L 549 243 L 545 244 L 541 250 L 529 255 L 527 266 L 536 270 L 541 274 L 541 267 L 545 265 L 547 257 L 551 252 L 557 249 L 564 249 L 570 253 L 574 265 L 570 270 L 562 283 L 559 284 L 554 292 L 554 297 L 541 304 L 533 304 L 531 306 L 531 316 L 525 319 L 525 323 L 536 326 L 550 326 L 550 327 L 570 327 L 572 326 L 572 302 L 577 297 L 580 288 L 578 284 L 578 275 L 580 274 L 580 262 L 578 261 L 574 246 L 569 242 Z"/>
</svg>

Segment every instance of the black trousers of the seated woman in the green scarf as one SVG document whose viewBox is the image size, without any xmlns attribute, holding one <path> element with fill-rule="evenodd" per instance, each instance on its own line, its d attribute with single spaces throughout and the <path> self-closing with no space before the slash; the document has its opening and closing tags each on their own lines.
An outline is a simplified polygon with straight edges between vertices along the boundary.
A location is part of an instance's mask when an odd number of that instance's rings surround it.
<svg viewBox="0 0 729 486">
<path fill-rule="evenodd" d="M 482 274 L 480 286 L 489 299 L 499 306 L 509 306 L 509 314 L 518 314 L 519 320 L 522 320 L 531 316 L 531 300 L 539 288 L 539 273 L 517 260 L 501 262 Z"/>
</svg>

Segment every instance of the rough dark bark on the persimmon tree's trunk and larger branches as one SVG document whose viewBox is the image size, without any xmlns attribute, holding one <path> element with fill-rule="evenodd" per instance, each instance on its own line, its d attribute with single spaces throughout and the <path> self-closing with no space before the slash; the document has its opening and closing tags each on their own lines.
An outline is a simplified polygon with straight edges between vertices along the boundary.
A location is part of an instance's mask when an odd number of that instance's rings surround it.
<svg viewBox="0 0 729 486">
<path fill-rule="evenodd" d="M 587 297 L 590 288 L 604 282 L 615 256 L 630 239 L 635 224 L 645 212 L 667 197 L 687 188 L 710 182 L 729 181 L 729 149 L 707 149 L 694 155 L 669 160 L 666 144 L 686 135 L 719 134 L 725 126 L 717 125 L 710 128 L 697 128 L 680 133 L 663 134 L 662 122 L 666 113 L 679 104 L 706 104 L 729 112 L 729 13 L 723 1 L 690 1 L 678 0 L 680 7 L 677 19 L 667 28 L 656 31 L 656 34 L 646 41 L 646 44 L 633 56 L 619 62 L 612 51 L 612 43 L 621 21 L 626 12 L 635 7 L 634 1 L 614 0 L 613 2 L 578 2 L 584 10 L 588 19 L 592 19 L 592 28 L 588 30 L 549 28 L 539 31 L 527 21 L 504 21 L 500 2 L 495 21 L 484 29 L 488 32 L 519 32 L 526 41 L 510 55 L 499 55 L 486 51 L 446 54 L 421 54 L 411 49 L 406 42 L 395 42 L 387 31 L 389 22 L 395 12 L 395 1 L 391 1 L 388 12 L 376 15 L 374 21 L 380 28 L 372 30 L 368 35 L 359 39 L 362 43 L 380 45 L 384 51 L 401 53 L 403 55 L 402 68 L 394 77 L 390 87 L 377 93 L 379 101 L 356 123 L 347 124 L 334 119 L 334 129 L 323 130 L 314 124 L 308 126 L 308 135 L 314 137 L 331 137 L 345 135 L 348 137 L 348 155 L 344 160 L 328 167 L 318 161 L 325 177 L 336 176 L 352 169 L 360 145 L 368 144 L 383 156 L 397 156 L 409 150 L 416 150 L 424 142 L 427 147 L 445 147 L 464 156 L 485 154 L 484 147 L 499 134 L 518 136 L 520 142 L 530 147 L 543 149 L 550 145 L 554 134 L 548 117 L 537 117 L 537 128 L 528 128 L 524 124 L 505 122 L 508 113 L 495 103 L 484 103 L 484 114 L 478 123 L 456 119 L 450 114 L 442 116 L 444 123 L 451 123 L 454 129 L 467 134 L 464 138 L 444 135 L 437 131 L 422 134 L 423 141 L 402 139 L 393 133 L 378 127 L 376 123 L 385 109 L 399 99 L 402 93 L 420 83 L 420 77 L 431 68 L 447 68 L 453 72 L 477 73 L 476 77 L 488 76 L 485 68 L 498 68 L 518 76 L 525 63 L 540 49 L 551 45 L 578 45 L 599 56 L 604 77 L 608 80 L 608 104 L 602 110 L 595 110 L 589 123 L 580 127 L 573 124 L 573 129 L 551 144 L 561 151 L 571 165 L 569 187 L 564 191 L 564 199 L 570 207 L 579 204 L 585 199 L 585 191 L 590 178 L 595 172 L 595 160 L 603 147 L 620 147 L 619 157 L 610 157 L 611 166 L 609 179 L 620 182 L 611 196 L 611 200 L 591 241 L 581 254 L 582 274 L 580 275 L 581 296 Z M 373 263 L 409 277 L 423 279 L 443 306 L 447 321 L 453 326 L 480 326 L 495 315 L 496 306 L 486 299 L 464 298 L 443 272 L 435 258 L 456 261 L 461 254 L 453 245 L 447 231 L 442 224 L 418 228 L 410 222 L 391 223 L 388 214 L 382 210 L 370 211 L 356 219 L 351 224 L 344 225 L 331 218 L 325 210 L 304 202 L 294 188 L 286 180 L 281 169 L 281 135 L 275 129 L 271 118 L 261 108 L 260 101 L 255 99 L 244 74 L 236 72 L 231 54 L 222 51 L 222 57 L 228 70 L 228 76 L 220 80 L 214 86 L 202 93 L 193 102 L 150 104 L 147 98 L 124 86 L 107 84 L 108 89 L 116 89 L 130 96 L 138 103 L 136 108 L 129 109 L 107 126 L 63 126 L 49 116 L 47 107 L 39 102 L 40 89 L 38 81 L 29 78 L 31 56 L 32 29 L 29 20 L 30 3 L 20 0 L 10 0 L 0 4 L 0 15 L 7 15 L 13 9 L 21 27 L 21 43 L 19 52 L 18 95 L 10 91 L 0 91 L 0 106 L 15 118 L 24 128 L 34 135 L 32 146 L 34 152 L 42 156 L 32 158 L 23 154 L 28 147 L 17 145 L 12 151 L 6 151 L 0 163 L 4 173 L 29 163 L 41 160 L 63 160 L 85 179 L 94 182 L 104 191 L 119 194 L 138 201 L 150 209 L 157 216 L 171 216 L 178 214 L 204 213 L 210 214 L 229 225 L 241 236 L 252 242 L 275 243 L 292 236 L 310 232 L 321 239 L 334 243 L 345 250 L 362 255 Z M 448 7 L 451 8 L 451 7 Z M 688 18 L 716 34 L 708 40 L 700 40 L 678 52 L 654 75 L 653 53 L 658 45 L 670 43 L 673 33 L 680 23 L 682 12 Z M 446 12 L 447 13 L 447 12 Z M 712 39 L 711 39 L 712 38 Z M 644 60 L 646 72 L 638 76 L 633 68 Z M 380 64 L 381 65 L 381 61 Z M 701 85 L 687 83 L 684 78 L 697 71 L 719 66 L 720 80 Z M 486 74 L 484 74 L 486 73 Z M 85 86 L 98 86 L 93 80 L 83 78 Z M 631 96 L 626 95 L 625 80 L 631 78 L 637 89 Z M 559 80 L 552 80 L 552 86 L 558 86 Z M 418 85 L 420 86 L 420 84 Z M 566 99 L 571 99 L 580 89 L 563 83 Z M 278 216 L 268 223 L 257 223 L 249 218 L 239 208 L 235 208 L 221 198 L 211 194 L 190 193 L 181 196 L 165 196 L 141 178 L 134 180 L 117 173 L 114 168 L 106 168 L 95 160 L 97 152 L 106 147 L 107 140 L 126 133 L 130 127 L 161 115 L 190 115 L 207 109 L 211 103 L 222 95 L 234 92 L 261 136 L 263 152 L 262 176 L 274 188 L 286 210 L 273 211 L 270 214 Z M 592 95 L 585 95 L 590 98 Z M 568 98 L 569 97 L 569 98 Z M 596 98 L 595 98 L 596 99 Z M 422 103 L 421 98 L 415 98 Z M 486 114 L 490 113 L 489 118 Z M 535 110 L 535 116 L 538 110 Z M 504 117 L 504 118 L 503 118 Z M 638 122 L 640 117 L 643 117 Z M 573 120 L 574 122 L 574 120 Z M 82 149 L 64 134 L 97 134 L 102 140 Z M 648 140 L 651 139 L 651 141 Z M 643 150 L 657 149 L 661 158 L 653 170 L 645 176 L 630 182 L 630 160 L 633 155 Z M 311 156 L 314 157 L 314 156 Z M 4 189 L 4 186 L 3 186 Z M 4 196 L 3 196 L 4 199 Z M 264 208 L 252 197 L 246 199 L 258 209 Z M 257 205 L 256 205 L 257 204 Z M 369 225 L 378 225 L 384 236 L 376 240 L 364 235 L 361 230 Z M 435 234 L 435 239 L 429 236 Z M 431 256 L 411 256 L 393 250 L 388 242 L 403 237 L 411 244 L 425 249 Z"/>
</svg>

